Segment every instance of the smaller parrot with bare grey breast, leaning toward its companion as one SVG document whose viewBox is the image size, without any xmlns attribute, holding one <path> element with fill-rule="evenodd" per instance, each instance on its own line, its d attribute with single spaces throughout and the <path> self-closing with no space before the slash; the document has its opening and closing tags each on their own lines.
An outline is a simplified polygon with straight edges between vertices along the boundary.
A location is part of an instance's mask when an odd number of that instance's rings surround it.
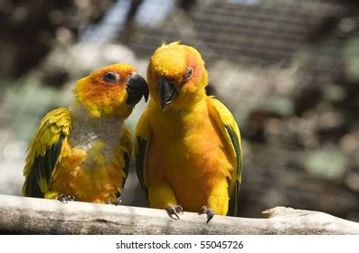
<svg viewBox="0 0 359 253">
<path fill-rule="evenodd" d="M 125 119 L 148 88 L 136 69 L 116 63 L 77 80 L 69 108 L 41 120 L 27 149 L 26 197 L 119 204 L 133 140 Z"/>
</svg>

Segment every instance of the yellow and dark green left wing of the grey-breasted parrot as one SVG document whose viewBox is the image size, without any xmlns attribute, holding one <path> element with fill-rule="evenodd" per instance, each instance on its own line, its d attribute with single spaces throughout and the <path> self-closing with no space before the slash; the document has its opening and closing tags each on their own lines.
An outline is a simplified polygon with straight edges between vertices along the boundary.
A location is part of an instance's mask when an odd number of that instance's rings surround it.
<svg viewBox="0 0 359 253">
<path fill-rule="evenodd" d="M 71 114 L 68 108 L 57 108 L 46 114 L 28 147 L 24 166 L 23 195 L 43 198 L 48 192 L 52 174 L 61 158 L 63 140 L 69 135 Z"/>
</svg>

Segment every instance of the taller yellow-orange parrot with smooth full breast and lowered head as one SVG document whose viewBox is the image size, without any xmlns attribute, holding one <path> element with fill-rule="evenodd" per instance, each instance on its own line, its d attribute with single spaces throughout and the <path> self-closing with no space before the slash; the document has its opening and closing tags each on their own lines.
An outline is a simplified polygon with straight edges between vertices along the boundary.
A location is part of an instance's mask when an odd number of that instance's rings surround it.
<svg viewBox="0 0 359 253">
<path fill-rule="evenodd" d="M 163 43 L 146 70 L 149 101 L 136 127 L 137 178 L 150 208 L 238 216 L 241 133 L 194 47 Z"/>
</svg>

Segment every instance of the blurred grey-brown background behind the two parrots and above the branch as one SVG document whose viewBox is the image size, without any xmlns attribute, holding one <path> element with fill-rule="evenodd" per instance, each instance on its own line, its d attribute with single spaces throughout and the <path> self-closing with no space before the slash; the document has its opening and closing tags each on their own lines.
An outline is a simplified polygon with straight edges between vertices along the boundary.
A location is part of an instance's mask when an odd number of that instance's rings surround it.
<svg viewBox="0 0 359 253">
<path fill-rule="evenodd" d="M 241 128 L 241 216 L 283 205 L 359 221 L 355 0 L 0 0 L 0 193 L 20 194 L 26 146 L 75 80 L 121 61 L 146 76 L 177 40 L 202 52 L 208 93 Z M 146 206 L 133 164 L 123 201 Z"/>
</svg>

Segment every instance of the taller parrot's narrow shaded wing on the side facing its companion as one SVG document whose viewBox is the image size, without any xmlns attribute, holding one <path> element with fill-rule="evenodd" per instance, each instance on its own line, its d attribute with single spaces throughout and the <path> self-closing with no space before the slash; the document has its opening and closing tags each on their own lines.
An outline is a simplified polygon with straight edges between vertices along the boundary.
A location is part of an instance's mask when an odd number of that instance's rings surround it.
<svg viewBox="0 0 359 253">
<path fill-rule="evenodd" d="M 146 155 L 149 143 L 151 141 L 151 128 L 149 126 L 146 111 L 139 118 L 136 127 L 136 143 L 135 143 L 135 154 L 136 154 L 136 172 L 138 181 L 142 186 L 142 189 L 146 192 L 147 197 L 147 185 L 146 185 Z"/>
</svg>

